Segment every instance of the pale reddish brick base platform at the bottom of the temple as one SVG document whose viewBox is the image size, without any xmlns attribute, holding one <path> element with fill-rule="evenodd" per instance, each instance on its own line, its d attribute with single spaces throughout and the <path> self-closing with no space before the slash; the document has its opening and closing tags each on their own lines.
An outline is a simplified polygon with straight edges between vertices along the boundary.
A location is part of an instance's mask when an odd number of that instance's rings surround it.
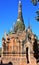
<svg viewBox="0 0 39 65">
<path fill-rule="evenodd" d="M 12 62 L 12 65 L 39 65 L 39 63 L 36 63 L 36 59 L 34 56 L 31 54 L 30 56 L 30 62 L 27 63 L 27 58 L 26 54 L 14 54 L 10 56 L 4 56 L 2 58 L 3 64 L 7 64 L 9 62 Z"/>
</svg>

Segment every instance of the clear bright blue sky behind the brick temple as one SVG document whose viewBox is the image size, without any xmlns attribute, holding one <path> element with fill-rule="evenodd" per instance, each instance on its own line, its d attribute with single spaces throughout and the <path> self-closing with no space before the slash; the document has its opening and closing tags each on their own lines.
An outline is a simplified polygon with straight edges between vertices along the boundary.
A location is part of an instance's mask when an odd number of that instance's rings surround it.
<svg viewBox="0 0 39 65">
<path fill-rule="evenodd" d="M 17 20 L 18 1 L 19 0 L 0 0 L 0 47 L 2 46 L 2 37 L 4 32 L 8 32 L 11 29 L 12 24 Z M 35 12 L 39 8 L 39 3 L 37 6 L 33 6 L 30 0 L 21 1 L 25 26 L 26 28 L 28 27 L 28 20 L 30 20 L 32 31 L 39 38 L 39 22 L 35 20 Z"/>
</svg>

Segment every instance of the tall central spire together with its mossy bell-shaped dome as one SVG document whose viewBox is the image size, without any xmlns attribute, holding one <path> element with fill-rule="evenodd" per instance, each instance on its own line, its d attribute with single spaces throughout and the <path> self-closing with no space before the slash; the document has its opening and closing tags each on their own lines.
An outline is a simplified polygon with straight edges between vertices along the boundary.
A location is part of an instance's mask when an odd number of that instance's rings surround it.
<svg viewBox="0 0 39 65">
<path fill-rule="evenodd" d="M 22 2 L 19 1 L 18 3 L 18 18 L 14 27 L 14 31 L 17 32 L 19 31 L 23 31 L 25 29 L 25 25 L 24 25 L 24 20 L 23 20 L 23 16 L 22 16 Z"/>
</svg>

